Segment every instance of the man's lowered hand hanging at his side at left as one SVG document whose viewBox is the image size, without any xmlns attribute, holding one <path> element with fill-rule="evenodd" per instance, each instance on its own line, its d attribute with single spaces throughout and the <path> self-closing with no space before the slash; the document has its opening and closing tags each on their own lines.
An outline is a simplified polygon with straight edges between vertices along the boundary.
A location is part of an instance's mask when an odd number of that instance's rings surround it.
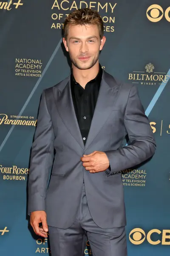
<svg viewBox="0 0 170 256">
<path fill-rule="evenodd" d="M 42 227 L 39 227 L 39 224 L 41 222 L 42 222 Z M 36 233 L 36 235 L 47 237 L 48 225 L 47 225 L 47 215 L 45 211 L 31 212 L 30 224 L 33 227 L 33 230 Z"/>
</svg>

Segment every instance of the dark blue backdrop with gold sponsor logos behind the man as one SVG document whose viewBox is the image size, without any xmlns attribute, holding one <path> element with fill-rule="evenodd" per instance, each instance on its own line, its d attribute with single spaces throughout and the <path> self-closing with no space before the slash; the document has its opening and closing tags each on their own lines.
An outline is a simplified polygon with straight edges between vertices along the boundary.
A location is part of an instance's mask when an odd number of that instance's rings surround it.
<svg viewBox="0 0 170 256">
<path fill-rule="evenodd" d="M 85 7 L 99 11 L 105 25 L 102 68 L 136 84 L 157 143 L 150 161 L 122 172 L 128 256 L 168 256 L 169 0 L 0 1 L 0 255 L 50 255 L 26 213 L 30 149 L 42 90 L 70 73 L 63 21 Z M 88 241 L 85 255 L 92 255 Z"/>
</svg>

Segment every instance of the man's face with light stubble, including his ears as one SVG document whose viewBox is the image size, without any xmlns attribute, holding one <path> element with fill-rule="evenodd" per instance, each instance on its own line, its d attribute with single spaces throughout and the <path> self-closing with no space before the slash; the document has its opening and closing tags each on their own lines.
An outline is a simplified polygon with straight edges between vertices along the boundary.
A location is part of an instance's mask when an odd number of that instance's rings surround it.
<svg viewBox="0 0 170 256">
<path fill-rule="evenodd" d="M 70 25 L 67 41 L 63 38 L 71 62 L 80 70 L 93 67 L 99 59 L 99 51 L 105 44 L 105 37 L 99 37 L 96 25 Z"/>
</svg>

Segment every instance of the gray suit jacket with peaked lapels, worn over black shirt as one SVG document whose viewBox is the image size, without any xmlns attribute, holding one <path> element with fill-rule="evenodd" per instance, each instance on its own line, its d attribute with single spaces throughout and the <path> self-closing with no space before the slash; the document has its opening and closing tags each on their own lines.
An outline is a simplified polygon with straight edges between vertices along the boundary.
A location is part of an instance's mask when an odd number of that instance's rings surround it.
<svg viewBox="0 0 170 256">
<path fill-rule="evenodd" d="M 130 144 L 122 147 L 126 134 Z M 31 151 L 28 214 L 45 210 L 48 225 L 70 227 L 79 208 L 84 179 L 94 222 L 101 228 L 126 225 L 122 177 L 116 172 L 143 162 L 155 149 L 136 86 L 118 83 L 104 70 L 84 146 L 68 76 L 42 92 Z M 93 174 L 82 166 L 80 157 L 93 151 L 105 151 L 111 165 L 109 174 L 109 170 Z"/>
</svg>

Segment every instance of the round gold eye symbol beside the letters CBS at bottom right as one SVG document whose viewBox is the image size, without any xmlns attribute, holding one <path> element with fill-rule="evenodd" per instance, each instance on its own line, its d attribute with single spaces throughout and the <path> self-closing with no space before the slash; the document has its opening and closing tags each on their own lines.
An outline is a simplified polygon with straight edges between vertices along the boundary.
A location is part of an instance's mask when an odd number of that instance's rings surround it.
<svg viewBox="0 0 170 256">
<path fill-rule="evenodd" d="M 130 231 L 129 240 L 132 244 L 142 244 L 146 235 L 141 228 L 134 228 Z"/>
</svg>

